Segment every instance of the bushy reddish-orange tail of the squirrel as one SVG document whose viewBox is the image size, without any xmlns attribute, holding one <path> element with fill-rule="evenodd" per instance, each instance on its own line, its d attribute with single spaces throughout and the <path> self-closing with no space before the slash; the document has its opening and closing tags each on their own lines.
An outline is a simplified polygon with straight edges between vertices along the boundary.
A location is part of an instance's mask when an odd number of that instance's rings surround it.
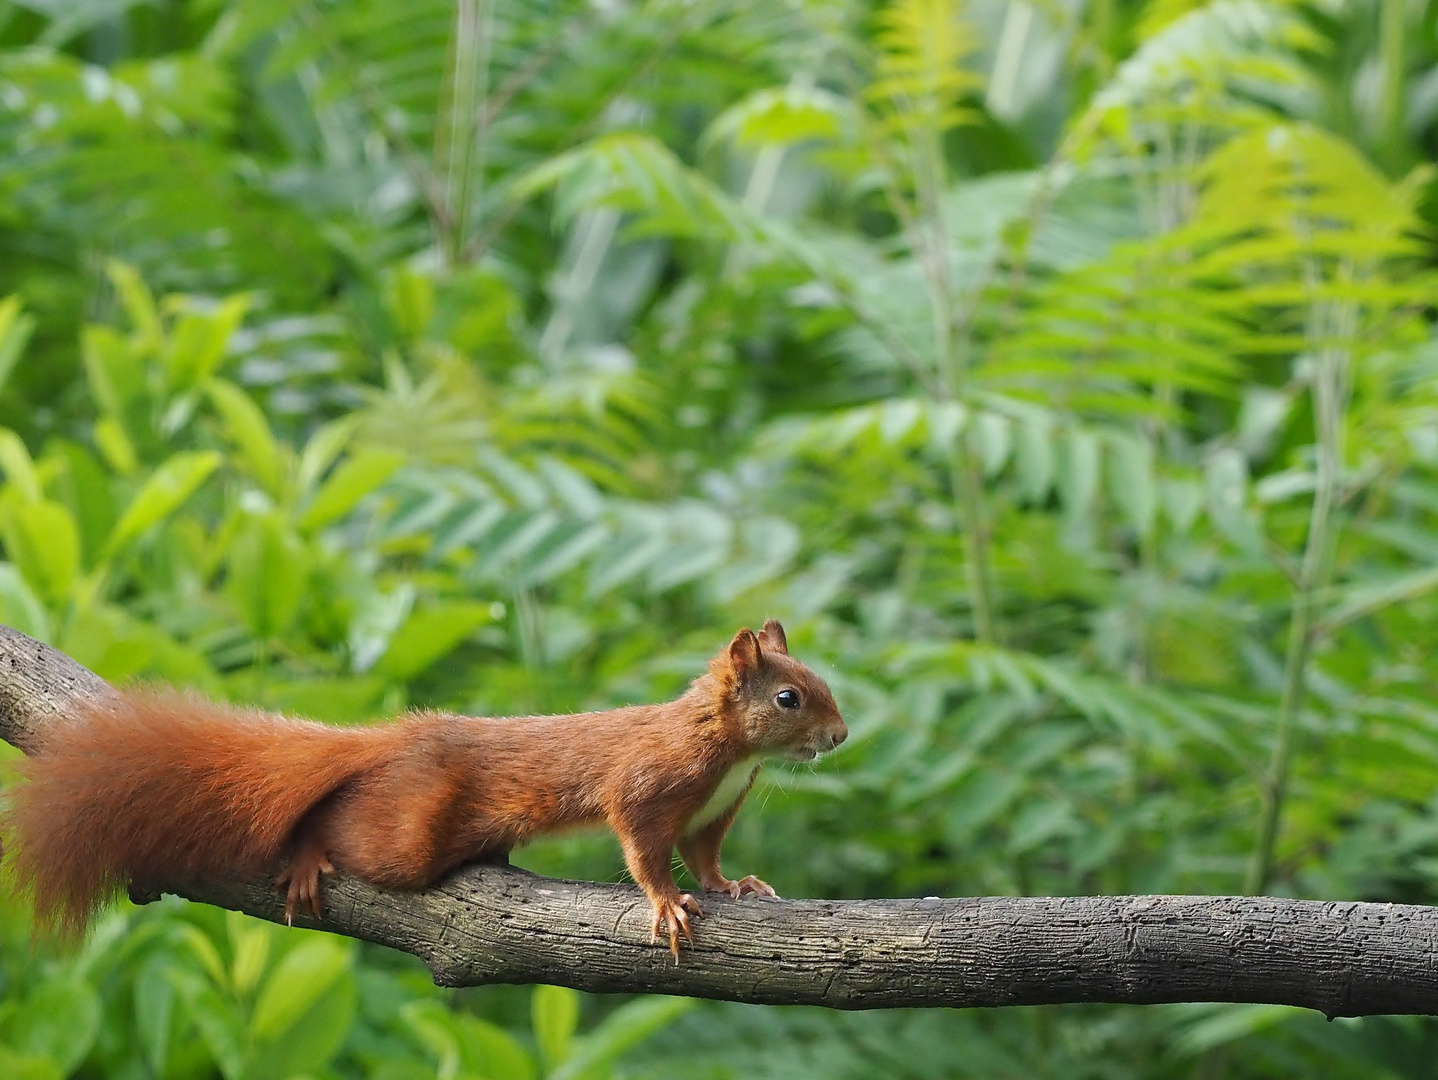
<svg viewBox="0 0 1438 1080">
<path fill-rule="evenodd" d="M 45 731 L 0 815 L 37 920 L 78 935 L 129 882 L 276 867 L 301 818 L 393 752 L 398 725 L 328 728 L 174 693 L 121 693 Z"/>
</svg>

